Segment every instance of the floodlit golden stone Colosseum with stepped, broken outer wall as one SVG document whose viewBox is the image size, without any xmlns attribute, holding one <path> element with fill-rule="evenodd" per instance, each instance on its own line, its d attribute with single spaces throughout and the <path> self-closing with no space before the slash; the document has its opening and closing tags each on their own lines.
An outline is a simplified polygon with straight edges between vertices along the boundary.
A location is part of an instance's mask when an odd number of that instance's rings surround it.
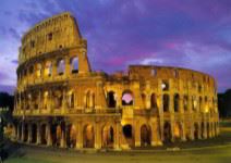
<svg viewBox="0 0 231 163">
<path fill-rule="evenodd" d="M 16 74 L 13 136 L 22 143 L 129 150 L 219 134 L 211 76 L 156 65 L 93 71 L 69 12 L 23 36 Z"/>
</svg>

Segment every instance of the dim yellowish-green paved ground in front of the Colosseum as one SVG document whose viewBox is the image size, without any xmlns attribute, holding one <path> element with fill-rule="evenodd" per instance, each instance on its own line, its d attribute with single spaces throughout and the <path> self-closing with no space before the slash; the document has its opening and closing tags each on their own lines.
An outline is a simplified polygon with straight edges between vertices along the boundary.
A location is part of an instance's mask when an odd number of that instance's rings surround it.
<svg viewBox="0 0 231 163">
<path fill-rule="evenodd" d="M 14 146 L 5 163 L 231 163 L 231 130 L 220 137 L 130 152 L 80 152 L 63 149 Z"/>
</svg>

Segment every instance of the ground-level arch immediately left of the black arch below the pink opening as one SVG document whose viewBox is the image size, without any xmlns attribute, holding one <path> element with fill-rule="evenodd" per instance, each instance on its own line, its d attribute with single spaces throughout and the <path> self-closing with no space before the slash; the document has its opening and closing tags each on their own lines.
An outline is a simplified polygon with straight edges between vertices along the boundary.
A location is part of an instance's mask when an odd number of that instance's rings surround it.
<svg viewBox="0 0 231 163">
<path fill-rule="evenodd" d="M 102 148 L 113 148 L 114 131 L 112 126 L 102 127 Z"/>
</svg>

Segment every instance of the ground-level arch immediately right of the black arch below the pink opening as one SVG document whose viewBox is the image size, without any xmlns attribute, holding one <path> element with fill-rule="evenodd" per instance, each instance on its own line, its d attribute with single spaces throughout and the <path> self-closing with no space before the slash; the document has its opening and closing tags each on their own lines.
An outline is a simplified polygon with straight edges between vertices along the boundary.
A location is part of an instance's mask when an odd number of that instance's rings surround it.
<svg viewBox="0 0 231 163">
<path fill-rule="evenodd" d="M 151 129 L 149 125 L 142 125 L 141 127 L 141 146 L 147 147 L 150 146 L 151 141 Z"/>
</svg>

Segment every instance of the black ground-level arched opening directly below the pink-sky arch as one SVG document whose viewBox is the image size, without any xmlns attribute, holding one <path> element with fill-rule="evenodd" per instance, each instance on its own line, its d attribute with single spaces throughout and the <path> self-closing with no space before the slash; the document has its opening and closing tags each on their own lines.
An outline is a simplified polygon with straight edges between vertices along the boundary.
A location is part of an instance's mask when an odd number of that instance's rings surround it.
<svg viewBox="0 0 231 163">
<path fill-rule="evenodd" d="M 134 139 L 134 130 L 132 125 L 127 124 L 123 126 L 123 135 L 125 137 L 126 142 L 130 147 L 134 147 L 135 139 Z"/>
</svg>

